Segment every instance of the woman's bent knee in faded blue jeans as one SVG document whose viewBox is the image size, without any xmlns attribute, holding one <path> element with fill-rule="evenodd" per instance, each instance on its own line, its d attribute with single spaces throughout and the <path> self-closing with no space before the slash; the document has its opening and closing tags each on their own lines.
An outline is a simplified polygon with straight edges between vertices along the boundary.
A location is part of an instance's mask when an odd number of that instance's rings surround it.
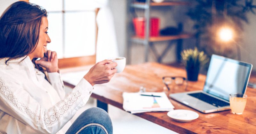
<svg viewBox="0 0 256 134">
<path fill-rule="evenodd" d="M 113 134 L 108 113 L 101 108 L 89 108 L 79 115 L 66 134 Z"/>
</svg>

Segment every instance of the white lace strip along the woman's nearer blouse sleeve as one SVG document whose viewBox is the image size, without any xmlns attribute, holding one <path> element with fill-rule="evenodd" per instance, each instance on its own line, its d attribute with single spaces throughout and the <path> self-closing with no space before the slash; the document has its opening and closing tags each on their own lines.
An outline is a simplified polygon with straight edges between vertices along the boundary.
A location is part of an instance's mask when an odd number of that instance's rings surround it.
<svg viewBox="0 0 256 134">
<path fill-rule="evenodd" d="M 79 91 L 74 91 L 72 95 L 68 96 L 68 99 L 64 103 L 60 103 L 58 108 L 54 108 L 55 112 L 52 114 L 41 117 L 36 114 L 36 112 L 28 108 L 25 104 L 21 103 L 19 99 L 13 95 L 13 93 L 4 84 L 3 79 L 0 77 L 0 96 L 5 100 L 5 102 L 12 107 L 18 113 L 27 116 L 36 126 L 51 126 L 61 118 L 67 111 L 74 105 L 74 103 L 79 99 L 81 93 Z M 73 108 L 71 108 L 73 109 Z M 44 109 L 45 112 L 46 109 Z"/>
</svg>

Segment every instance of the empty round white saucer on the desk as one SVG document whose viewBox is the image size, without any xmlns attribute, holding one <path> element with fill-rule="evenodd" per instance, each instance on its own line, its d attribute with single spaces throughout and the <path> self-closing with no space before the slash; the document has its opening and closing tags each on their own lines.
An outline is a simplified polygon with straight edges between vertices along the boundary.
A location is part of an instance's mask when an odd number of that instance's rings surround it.
<svg viewBox="0 0 256 134">
<path fill-rule="evenodd" d="M 199 115 L 191 110 L 177 109 L 167 113 L 169 117 L 180 122 L 190 122 L 199 117 Z"/>
</svg>

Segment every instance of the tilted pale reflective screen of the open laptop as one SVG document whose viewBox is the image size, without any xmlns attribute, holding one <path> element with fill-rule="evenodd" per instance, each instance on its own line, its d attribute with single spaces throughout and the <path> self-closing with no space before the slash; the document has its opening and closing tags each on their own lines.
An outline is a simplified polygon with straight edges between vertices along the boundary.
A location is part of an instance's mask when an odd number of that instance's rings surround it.
<svg viewBox="0 0 256 134">
<path fill-rule="evenodd" d="M 212 55 L 204 92 L 229 101 L 230 93 L 245 93 L 252 64 Z"/>
</svg>

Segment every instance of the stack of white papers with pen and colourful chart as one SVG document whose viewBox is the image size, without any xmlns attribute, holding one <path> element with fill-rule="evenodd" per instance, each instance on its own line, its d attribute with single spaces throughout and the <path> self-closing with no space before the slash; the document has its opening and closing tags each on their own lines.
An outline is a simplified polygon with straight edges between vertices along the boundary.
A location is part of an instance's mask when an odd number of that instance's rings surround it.
<svg viewBox="0 0 256 134">
<path fill-rule="evenodd" d="M 164 92 L 123 93 L 125 111 L 143 113 L 151 111 L 171 111 L 173 105 Z"/>
</svg>

